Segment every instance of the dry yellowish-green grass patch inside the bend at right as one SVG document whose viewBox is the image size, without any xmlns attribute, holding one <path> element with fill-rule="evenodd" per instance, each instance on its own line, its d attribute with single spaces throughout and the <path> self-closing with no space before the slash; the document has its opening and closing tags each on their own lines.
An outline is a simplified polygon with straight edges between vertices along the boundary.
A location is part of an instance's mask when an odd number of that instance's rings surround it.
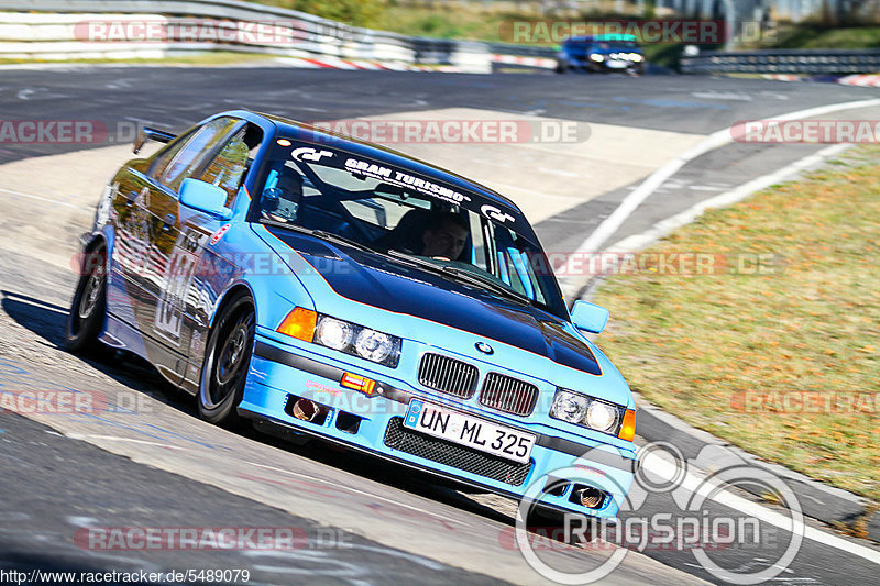
<svg viewBox="0 0 880 586">
<path fill-rule="evenodd" d="M 744 394 L 877 391 L 879 156 L 878 146 L 860 147 L 800 183 L 711 210 L 648 251 L 782 259 L 766 274 L 617 275 L 596 298 L 613 316 L 598 343 L 634 390 L 763 458 L 875 500 L 880 395 L 872 410 L 810 412 L 779 400 L 746 408 Z"/>
</svg>

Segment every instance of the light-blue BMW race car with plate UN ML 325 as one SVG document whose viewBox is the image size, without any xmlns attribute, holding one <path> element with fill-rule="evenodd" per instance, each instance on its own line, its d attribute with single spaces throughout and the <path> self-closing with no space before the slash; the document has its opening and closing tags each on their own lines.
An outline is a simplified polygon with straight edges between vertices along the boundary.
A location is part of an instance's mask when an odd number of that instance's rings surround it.
<svg viewBox="0 0 880 586">
<path fill-rule="evenodd" d="M 165 144 L 122 166 L 84 237 L 68 349 L 143 356 L 217 424 L 615 517 L 635 403 L 583 333 L 608 313 L 566 309 L 513 202 L 250 111 L 146 140 Z"/>
</svg>

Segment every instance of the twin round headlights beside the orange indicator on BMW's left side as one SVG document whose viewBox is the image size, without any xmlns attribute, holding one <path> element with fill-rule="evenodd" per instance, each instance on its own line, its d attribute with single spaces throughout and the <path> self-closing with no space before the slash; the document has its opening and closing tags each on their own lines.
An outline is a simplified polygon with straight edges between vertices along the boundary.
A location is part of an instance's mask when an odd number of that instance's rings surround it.
<svg viewBox="0 0 880 586">
<path fill-rule="evenodd" d="M 312 341 L 392 368 L 400 360 L 399 338 L 330 316 L 318 316 Z"/>
</svg>

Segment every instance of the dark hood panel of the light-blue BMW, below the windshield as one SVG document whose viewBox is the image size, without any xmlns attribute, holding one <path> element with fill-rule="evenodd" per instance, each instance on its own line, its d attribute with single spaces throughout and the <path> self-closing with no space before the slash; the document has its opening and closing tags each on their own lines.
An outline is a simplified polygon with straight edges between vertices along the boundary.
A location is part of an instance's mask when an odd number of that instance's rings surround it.
<svg viewBox="0 0 880 586">
<path fill-rule="evenodd" d="M 346 299 L 471 332 L 602 375 L 594 353 L 575 335 L 574 328 L 541 309 L 495 297 L 405 262 L 284 229 L 266 229 L 275 236 L 268 244 L 277 253 L 289 261 L 293 250 L 309 265 L 294 267 L 300 278 L 305 273 L 317 274 Z"/>
</svg>

